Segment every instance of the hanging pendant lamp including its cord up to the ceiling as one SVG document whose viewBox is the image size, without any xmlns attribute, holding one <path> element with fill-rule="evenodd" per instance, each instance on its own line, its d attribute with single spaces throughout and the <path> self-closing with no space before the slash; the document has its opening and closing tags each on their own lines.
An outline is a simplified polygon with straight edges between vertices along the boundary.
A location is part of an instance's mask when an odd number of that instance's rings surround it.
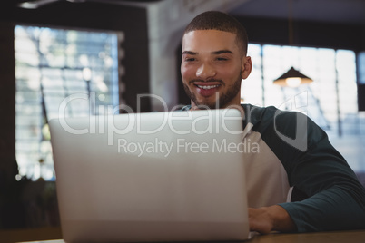
<svg viewBox="0 0 365 243">
<path fill-rule="evenodd" d="M 288 29 L 289 29 L 289 44 L 293 44 L 293 24 L 292 24 L 292 3 L 291 0 L 288 0 L 289 3 L 289 20 L 288 20 Z M 279 78 L 273 81 L 274 84 L 278 84 L 281 87 L 298 87 L 303 83 L 311 83 L 313 80 L 298 70 L 291 67 L 288 72 L 282 74 Z"/>
</svg>

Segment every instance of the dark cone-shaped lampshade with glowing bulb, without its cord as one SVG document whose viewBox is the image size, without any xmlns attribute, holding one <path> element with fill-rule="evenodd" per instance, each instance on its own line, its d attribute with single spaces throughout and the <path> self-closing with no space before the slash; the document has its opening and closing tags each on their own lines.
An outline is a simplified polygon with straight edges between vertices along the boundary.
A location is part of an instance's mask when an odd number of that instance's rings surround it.
<svg viewBox="0 0 365 243">
<path fill-rule="evenodd" d="M 274 84 L 278 84 L 282 87 L 289 86 L 289 87 L 298 87 L 303 83 L 311 83 L 313 80 L 303 73 L 295 70 L 293 67 L 287 72 L 282 74 L 279 78 L 274 80 Z"/>
</svg>

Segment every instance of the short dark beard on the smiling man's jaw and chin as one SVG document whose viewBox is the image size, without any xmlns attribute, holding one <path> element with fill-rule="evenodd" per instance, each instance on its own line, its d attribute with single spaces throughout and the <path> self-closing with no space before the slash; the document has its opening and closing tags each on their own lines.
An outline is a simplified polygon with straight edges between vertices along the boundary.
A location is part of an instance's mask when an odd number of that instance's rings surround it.
<svg viewBox="0 0 365 243">
<path fill-rule="evenodd" d="M 200 81 L 202 80 L 194 80 L 194 81 Z M 217 80 L 219 83 L 223 83 L 222 80 Z M 191 81 L 192 82 L 192 81 Z M 241 92 L 241 72 L 239 73 L 236 81 L 230 85 L 227 89 L 227 92 L 220 93 L 217 92 L 215 94 L 215 101 L 214 102 L 198 102 L 198 99 L 196 98 L 196 95 L 190 91 L 189 86 L 186 83 L 183 83 L 183 88 L 186 92 L 186 94 L 189 96 L 189 98 L 192 100 L 192 102 L 195 103 L 200 109 L 217 109 L 217 108 L 223 108 L 225 107 L 229 102 L 234 99 L 234 97 L 237 96 L 239 92 Z"/>
</svg>

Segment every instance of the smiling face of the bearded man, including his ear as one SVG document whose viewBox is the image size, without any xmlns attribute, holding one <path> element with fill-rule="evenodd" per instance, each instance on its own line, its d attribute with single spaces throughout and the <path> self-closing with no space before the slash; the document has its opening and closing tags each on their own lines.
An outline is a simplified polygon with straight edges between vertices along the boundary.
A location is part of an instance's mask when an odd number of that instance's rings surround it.
<svg viewBox="0 0 365 243">
<path fill-rule="evenodd" d="M 236 34 L 197 30 L 182 37 L 182 83 L 192 108 L 239 105 L 241 82 L 251 67 L 250 57 L 242 56 L 236 44 Z"/>
</svg>

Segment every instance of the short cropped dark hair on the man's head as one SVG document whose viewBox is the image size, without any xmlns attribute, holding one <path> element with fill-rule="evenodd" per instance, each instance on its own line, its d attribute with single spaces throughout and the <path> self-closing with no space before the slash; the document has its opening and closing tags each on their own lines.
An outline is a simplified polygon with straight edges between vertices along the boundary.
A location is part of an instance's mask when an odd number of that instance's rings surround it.
<svg viewBox="0 0 365 243">
<path fill-rule="evenodd" d="M 242 54 L 246 55 L 248 37 L 246 29 L 232 15 L 222 13 L 220 11 L 207 11 L 197 15 L 192 19 L 190 24 L 185 28 L 183 34 L 187 34 L 195 30 L 219 30 L 236 34 L 236 42 Z"/>
</svg>

